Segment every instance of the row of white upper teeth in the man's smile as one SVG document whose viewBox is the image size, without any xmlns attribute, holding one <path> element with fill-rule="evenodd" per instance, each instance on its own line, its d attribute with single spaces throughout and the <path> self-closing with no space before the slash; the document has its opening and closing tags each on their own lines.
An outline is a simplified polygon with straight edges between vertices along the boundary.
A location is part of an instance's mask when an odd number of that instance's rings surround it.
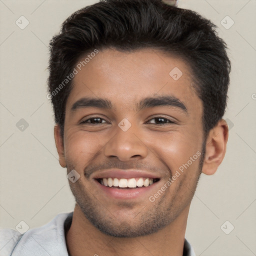
<svg viewBox="0 0 256 256">
<path fill-rule="evenodd" d="M 153 178 L 103 178 L 100 183 L 105 186 L 119 186 L 119 187 L 136 187 L 149 186 L 153 183 Z"/>
</svg>

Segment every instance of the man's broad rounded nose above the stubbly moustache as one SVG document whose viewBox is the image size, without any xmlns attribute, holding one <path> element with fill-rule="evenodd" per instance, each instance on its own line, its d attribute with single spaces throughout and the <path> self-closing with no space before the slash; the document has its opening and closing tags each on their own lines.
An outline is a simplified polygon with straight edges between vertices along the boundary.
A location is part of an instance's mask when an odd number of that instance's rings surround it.
<svg viewBox="0 0 256 256">
<path fill-rule="evenodd" d="M 116 127 L 115 135 L 112 136 L 104 147 L 105 156 L 115 157 L 120 161 L 145 158 L 148 148 L 136 133 L 138 132 L 132 126 L 127 131 Z"/>
</svg>

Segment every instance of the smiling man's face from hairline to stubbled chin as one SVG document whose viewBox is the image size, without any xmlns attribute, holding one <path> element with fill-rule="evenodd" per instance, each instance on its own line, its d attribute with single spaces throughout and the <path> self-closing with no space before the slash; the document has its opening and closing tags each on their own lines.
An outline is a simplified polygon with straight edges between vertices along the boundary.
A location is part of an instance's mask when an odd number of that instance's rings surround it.
<svg viewBox="0 0 256 256">
<path fill-rule="evenodd" d="M 191 83 L 181 59 L 152 49 L 104 49 L 75 75 L 60 163 L 79 173 L 71 191 L 102 232 L 150 234 L 189 205 L 203 144 Z"/>
</svg>

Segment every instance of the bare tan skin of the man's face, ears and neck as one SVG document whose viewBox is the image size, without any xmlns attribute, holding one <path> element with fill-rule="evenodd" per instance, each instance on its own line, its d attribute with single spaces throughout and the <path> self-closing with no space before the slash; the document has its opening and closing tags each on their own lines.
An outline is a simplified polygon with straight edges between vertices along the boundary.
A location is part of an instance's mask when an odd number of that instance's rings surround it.
<svg viewBox="0 0 256 256">
<path fill-rule="evenodd" d="M 169 72 L 178 67 L 182 76 Z M 66 233 L 72 256 L 175 255 L 181 256 L 190 202 L 201 172 L 213 174 L 221 163 L 228 137 L 221 119 L 205 141 L 205 156 L 194 160 L 153 202 L 148 198 L 171 178 L 196 152 L 202 152 L 202 102 L 191 86 L 189 66 L 179 58 L 152 49 L 120 52 L 104 49 L 74 77 L 66 102 L 64 136 L 55 125 L 59 162 L 80 178 L 72 183 L 76 199 L 73 220 Z M 171 95 L 184 103 L 137 110 L 146 97 Z M 106 98 L 112 108 L 72 105 L 82 97 Z M 166 119 L 157 122 L 154 117 Z M 98 123 L 81 123 L 99 117 Z M 131 127 L 118 123 L 127 118 Z M 89 122 L 91 119 L 89 119 Z M 161 122 L 165 124 L 161 124 Z M 159 124 L 160 123 L 160 124 Z M 200 164 L 201 159 L 201 164 Z M 157 173 L 154 189 L 134 199 L 116 199 L 102 192 L 93 171 L 107 168 L 144 169 Z M 87 174 L 87 175 L 86 175 Z"/>
</svg>

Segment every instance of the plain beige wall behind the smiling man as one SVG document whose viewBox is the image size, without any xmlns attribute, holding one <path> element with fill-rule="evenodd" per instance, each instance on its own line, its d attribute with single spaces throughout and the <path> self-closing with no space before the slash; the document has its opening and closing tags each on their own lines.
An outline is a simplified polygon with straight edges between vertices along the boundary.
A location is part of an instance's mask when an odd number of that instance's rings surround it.
<svg viewBox="0 0 256 256">
<path fill-rule="evenodd" d="M 95 0 L 0 0 L 0 226 L 30 228 L 71 211 L 74 199 L 57 160 L 53 113 L 46 98 L 47 45 L 73 11 Z M 180 0 L 218 25 L 232 61 L 227 153 L 218 171 L 202 175 L 186 237 L 196 255 L 256 255 L 255 57 L 256 0 Z M 20 29 L 21 16 L 29 24 Z M 234 24 L 224 28 L 228 15 Z M 231 20 L 224 19 L 226 25 Z M 253 99 L 254 98 L 254 99 Z M 16 123 L 25 119 L 23 131 Z M 234 229 L 225 234 L 228 220 Z M 225 230 L 229 230 L 227 224 Z"/>
</svg>

